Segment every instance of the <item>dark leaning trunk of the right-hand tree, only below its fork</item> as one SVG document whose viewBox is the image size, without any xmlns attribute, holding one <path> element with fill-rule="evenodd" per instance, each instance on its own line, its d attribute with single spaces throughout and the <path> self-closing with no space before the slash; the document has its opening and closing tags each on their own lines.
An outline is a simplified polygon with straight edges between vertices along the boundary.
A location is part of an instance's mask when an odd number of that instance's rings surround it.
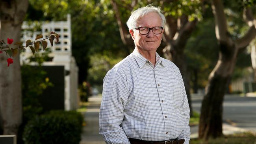
<svg viewBox="0 0 256 144">
<path fill-rule="evenodd" d="M 233 74 L 238 54 L 238 48 L 233 44 L 220 44 L 220 54 L 217 65 L 209 76 L 206 94 L 202 101 L 198 137 L 208 139 L 223 135 L 222 113 L 223 99 L 228 82 Z"/>
</svg>

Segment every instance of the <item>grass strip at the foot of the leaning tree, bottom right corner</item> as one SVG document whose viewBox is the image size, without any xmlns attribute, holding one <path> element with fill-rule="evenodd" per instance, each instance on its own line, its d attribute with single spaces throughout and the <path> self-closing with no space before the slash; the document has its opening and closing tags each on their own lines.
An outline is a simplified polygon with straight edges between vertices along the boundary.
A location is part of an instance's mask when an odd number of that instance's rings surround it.
<svg viewBox="0 0 256 144">
<path fill-rule="evenodd" d="M 208 141 L 191 139 L 189 144 L 256 144 L 256 134 L 246 132 L 225 135 L 216 139 L 210 138 Z"/>
</svg>

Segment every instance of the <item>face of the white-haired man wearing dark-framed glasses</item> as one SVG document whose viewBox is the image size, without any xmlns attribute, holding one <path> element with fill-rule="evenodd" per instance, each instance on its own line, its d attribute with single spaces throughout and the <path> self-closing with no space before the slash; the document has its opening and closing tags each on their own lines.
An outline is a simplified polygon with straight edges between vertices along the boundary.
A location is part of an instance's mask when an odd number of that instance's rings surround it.
<svg viewBox="0 0 256 144">
<path fill-rule="evenodd" d="M 148 13 L 137 21 L 136 27 L 156 27 L 162 26 L 161 17 L 157 13 Z M 152 30 L 147 35 L 141 35 L 139 30 L 130 30 L 135 46 L 142 51 L 156 51 L 160 46 L 163 31 L 160 34 L 154 34 Z"/>
</svg>

